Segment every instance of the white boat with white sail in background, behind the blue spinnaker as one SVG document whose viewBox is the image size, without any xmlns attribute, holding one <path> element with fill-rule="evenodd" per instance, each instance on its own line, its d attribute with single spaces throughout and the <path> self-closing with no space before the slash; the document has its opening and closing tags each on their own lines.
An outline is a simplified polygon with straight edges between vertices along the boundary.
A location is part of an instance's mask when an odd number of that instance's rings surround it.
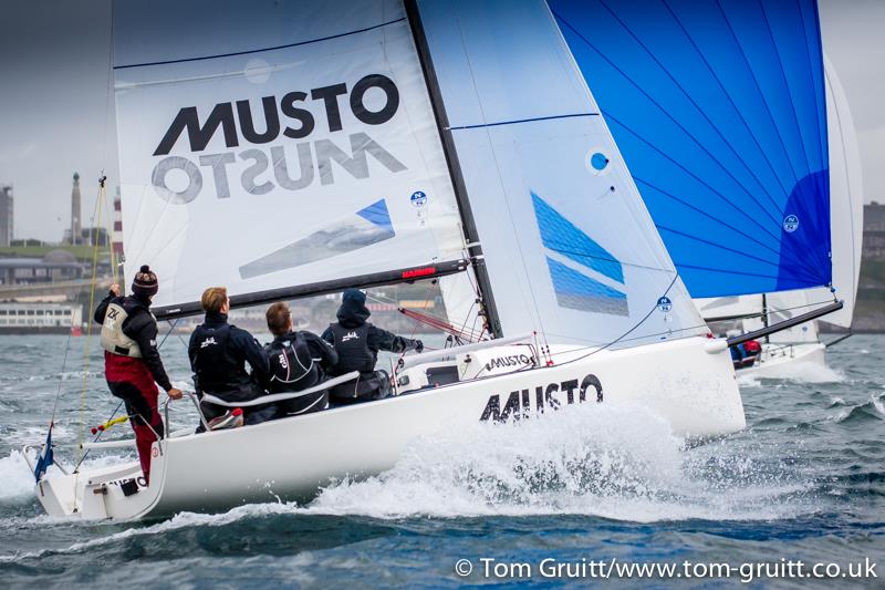
<svg viewBox="0 0 885 590">
<path fill-rule="evenodd" d="M 826 127 L 830 148 L 830 219 L 833 246 L 833 286 L 844 300 L 844 308 L 829 314 L 826 321 L 851 329 L 857 282 L 861 273 L 863 235 L 863 185 L 854 123 L 845 92 L 830 60 L 824 54 L 826 87 Z M 696 300 L 708 322 L 736 320 L 748 332 L 798 315 L 809 308 L 825 303 L 825 289 L 806 289 Z M 844 337 L 843 337 L 844 338 Z M 740 374 L 790 377 L 799 364 L 826 365 L 826 346 L 843 338 L 821 342 L 814 321 L 794 325 L 766 338 L 757 361 L 739 370 Z"/>
</svg>

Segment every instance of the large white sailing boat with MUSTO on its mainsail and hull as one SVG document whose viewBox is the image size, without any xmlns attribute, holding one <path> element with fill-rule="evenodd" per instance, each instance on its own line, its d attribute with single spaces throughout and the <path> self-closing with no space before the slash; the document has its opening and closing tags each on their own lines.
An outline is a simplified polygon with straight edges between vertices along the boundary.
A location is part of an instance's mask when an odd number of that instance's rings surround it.
<svg viewBox="0 0 885 590">
<path fill-rule="evenodd" d="M 243 307 L 438 279 L 452 323 L 486 334 L 404 359 L 382 401 L 199 435 L 167 420 L 149 485 L 137 463 L 53 473 L 37 485 L 46 511 L 304 500 L 392 467 L 416 437 L 573 404 L 648 408 L 681 435 L 743 428 L 728 344 L 556 6 L 206 0 L 170 21 L 117 2 L 126 263 L 157 270 L 159 320 L 197 313 L 207 284 Z"/>
</svg>

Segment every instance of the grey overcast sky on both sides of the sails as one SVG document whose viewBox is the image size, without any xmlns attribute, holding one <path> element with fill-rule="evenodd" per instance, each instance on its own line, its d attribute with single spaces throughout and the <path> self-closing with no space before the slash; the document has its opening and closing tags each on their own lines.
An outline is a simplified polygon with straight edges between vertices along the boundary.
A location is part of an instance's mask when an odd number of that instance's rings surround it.
<svg viewBox="0 0 885 590">
<path fill-rule="evenodd" d="M 71 176 L 92 216 L 100 170 L 117 184 L 110 0 L 0 0 L 0 183 L 15 237 L 58 241 Z M 885 0 L 820 0 L 824 48 L 857 127 L 866 200 L 885 200 Z"/>
</svg>

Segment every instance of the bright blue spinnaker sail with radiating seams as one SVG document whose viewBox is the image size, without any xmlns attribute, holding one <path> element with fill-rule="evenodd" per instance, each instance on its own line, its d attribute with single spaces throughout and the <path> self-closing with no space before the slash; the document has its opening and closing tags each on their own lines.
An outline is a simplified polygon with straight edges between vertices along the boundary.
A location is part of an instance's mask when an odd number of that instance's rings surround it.
<svg viewBox="0 0 885 590">
<path fill-rule="evenodd" d="M 550 0 L 693 297 L 831 282 L 814 0 Z"/>
</svg>

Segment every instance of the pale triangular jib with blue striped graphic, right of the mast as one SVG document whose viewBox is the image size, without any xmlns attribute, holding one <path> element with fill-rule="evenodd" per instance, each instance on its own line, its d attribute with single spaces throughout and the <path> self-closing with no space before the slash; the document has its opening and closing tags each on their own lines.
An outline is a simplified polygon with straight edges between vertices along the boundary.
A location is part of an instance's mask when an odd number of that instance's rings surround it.
<svg viewBox="0 0 885 590">
<path fill-rule="evenodd" d="M 504 335 L 706 332 L 543 2 L 423 2 Z"/>
</svg>

